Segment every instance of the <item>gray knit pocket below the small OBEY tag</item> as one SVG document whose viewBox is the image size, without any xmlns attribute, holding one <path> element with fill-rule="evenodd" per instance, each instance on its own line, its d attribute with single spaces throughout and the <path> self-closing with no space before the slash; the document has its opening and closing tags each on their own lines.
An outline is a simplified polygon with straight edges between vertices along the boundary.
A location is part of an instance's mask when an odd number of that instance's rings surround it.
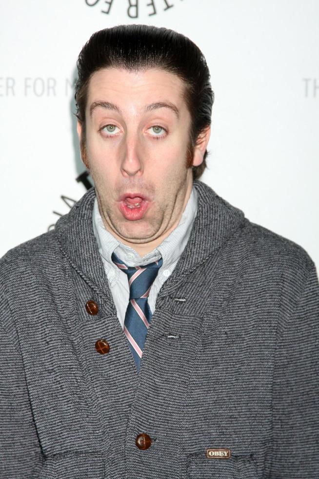
<svg viewBox="0 0 319 479">
<path fill-rule="evenodd" d="M 253 455 L 233 455 L 229 459 L 192 455 L 187 460 L 187 478 L 191 479 L 257 479 Z"/>
</svg>

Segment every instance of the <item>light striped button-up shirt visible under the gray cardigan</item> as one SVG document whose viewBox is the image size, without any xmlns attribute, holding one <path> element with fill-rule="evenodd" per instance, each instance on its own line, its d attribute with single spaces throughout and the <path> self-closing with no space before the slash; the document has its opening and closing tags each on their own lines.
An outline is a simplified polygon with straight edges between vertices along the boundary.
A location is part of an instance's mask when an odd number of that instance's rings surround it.
<svg viewBox="0 0 319 479">
<path fill-rule="evenodd" d="M 129 301 L 129 285 L 127 275 L 120 271 L 118 266 L 116 266 L 111 260 L 112 253 L 115 252 L 117 257 L 121 261 L 124 261 L 128 266 L 148 264 L 152 261 L 157 261 L 162 257 L 163 265 L 159 269 L 159 274 L 152 284 L 148 297 L 148 304 L 152 313 L 154 313 L 159 290 L 167 278 L 172 274 L 190 237 L 193 223 L 197 215 L 197 204 L 198 195 L 193 187 L 178 226 L 157 248 L 141 258 L 139 253 L 133 248 L 130 248 L 117 240 L 104 228 L 98 201 L 95 198 L 93 207 L 93 231 L 98 242 L 104 270 L 122 328 L 124 327 L 125 312 Z"/>
</svg>

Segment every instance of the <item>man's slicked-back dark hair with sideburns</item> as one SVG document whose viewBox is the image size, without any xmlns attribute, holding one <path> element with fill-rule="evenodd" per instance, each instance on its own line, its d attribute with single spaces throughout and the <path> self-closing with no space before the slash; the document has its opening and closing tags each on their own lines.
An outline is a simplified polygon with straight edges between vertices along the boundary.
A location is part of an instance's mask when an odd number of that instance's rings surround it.
<svg viewBox="0 0 319 479">
<path fill-rule="evenodd" d="M 188 160 L 198 135 L 211 124 L 214 92 L 205 58 L 199 47 L 184 35 L 167 28 L 149 25 L 119 25 L 94 33 L 83 46 L 78 59 L 75 87 L 77 117 L 85 141 L 85 107 L 91 76 L 107 68 L 138 71 L 161 68 L 177 75 L 185 84 L 184 98 L 191 115 Z M 207 150 L 201 165 L 193 167 L 193 178 L 206 168 Z M 191 165 L 191 161 L 188 161 Z"/>
</svg>

